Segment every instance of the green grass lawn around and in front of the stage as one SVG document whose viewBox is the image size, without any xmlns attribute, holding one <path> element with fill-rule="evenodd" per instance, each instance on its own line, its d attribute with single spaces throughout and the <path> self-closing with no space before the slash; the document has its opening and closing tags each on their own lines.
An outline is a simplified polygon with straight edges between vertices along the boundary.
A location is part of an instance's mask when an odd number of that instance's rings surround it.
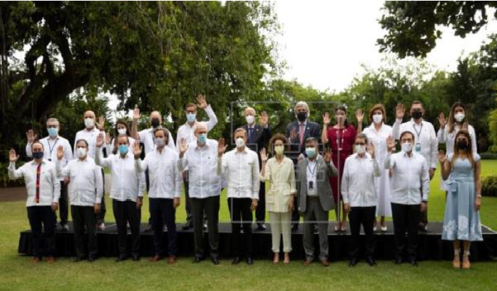
<svg viewBox="0 0 497 291">
<path fill-rule="evenodd" d="M 497 161 L 486 160 L 484 174 L 497 171 Z M 437 175 L 438 176 L 438 175 Z M 430 220 L 442 220 L 445 194 L 440 180 L 433 179 L 429 203 Z M 147 199 L 145 199 L 147 201 Z M 183 202 L 183 201 L 182 201 Z M 481 220 L 497 229 L 497 198 L 484 198 Z M 108 200 L 108 205 L 110 201 Z M 147 207 L 145 205 L 144 207 Z M 147 208 L 145 208 L 147 209 Z M 143 221 L 148 211 L 143 211 Z M 108 209 L 108 220 L 113 220 Z M 334 215 L 331 214 L 331 218 Z M 185 210 L 177 213 L 185 220 Z M 229 221 L 227 201 L 222 198 L 220 220 Z M 447 261 L 423 261 L 419 268 L 394 266 L 379 261 L 378 268 L 360 263 L 348 268 L 345 261 L 323 268 L 314 263 L 304 267 L 302 261 L 289 266 L 273 266 L 268 260 L 258 260 L 254 266 L 231 266 L 228 259 L 221 265 L 209 262 L 194 265 L 191 258 L 181 258 L 174 266 L 166 262 L 149 263 L 125 261 L 114 263 L 103 258 L 96 263 L 72 263 L 61 258 L 52 266 L 33 266 L 30 258 L 17 254 L 19 232 L 29 228 L 24 202 L 0 203 L 0 290 L 495 290 L 497 264 L 474 263 L 469 271 L 451 268 Z"/>
</svg>

